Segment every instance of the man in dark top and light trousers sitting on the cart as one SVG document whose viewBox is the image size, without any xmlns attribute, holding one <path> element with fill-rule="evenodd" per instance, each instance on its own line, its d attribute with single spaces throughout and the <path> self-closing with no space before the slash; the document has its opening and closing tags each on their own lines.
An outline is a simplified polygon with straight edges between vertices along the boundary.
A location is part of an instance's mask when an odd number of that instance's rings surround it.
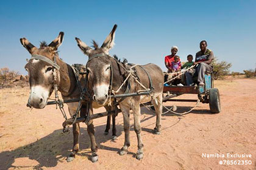
<svg viewBox="0 0 256 170">
<path fill-rule="evenodd" d="M 213 66 L 212 61 L 214 59 L 213 51 L 207 49 L 207 42 L 205 40 L 200 42 L 200 51 L 196 53 L 196 59 L 194 65 L 196 66 L 197 82 L 199 86 L 204 86 L 204 75 L 205 72 L 212 72 Z"/>
</svg>

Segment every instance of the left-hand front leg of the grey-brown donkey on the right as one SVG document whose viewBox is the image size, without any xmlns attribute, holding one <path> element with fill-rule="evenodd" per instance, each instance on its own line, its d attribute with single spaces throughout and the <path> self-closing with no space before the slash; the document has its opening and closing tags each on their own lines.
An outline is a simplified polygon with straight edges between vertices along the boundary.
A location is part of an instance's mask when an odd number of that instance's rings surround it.
<svg viewBox="0 0 256 170">
<path fill-rule="evenodd" d="M 123 117 L 124 117 L 124 146 L 121 148 L 121 151 L 119 152 L 119 155 L 127 154 L 128 148 L 130 146 L 130 108 L 129 107 L 121 107 Z"/>
</svg>

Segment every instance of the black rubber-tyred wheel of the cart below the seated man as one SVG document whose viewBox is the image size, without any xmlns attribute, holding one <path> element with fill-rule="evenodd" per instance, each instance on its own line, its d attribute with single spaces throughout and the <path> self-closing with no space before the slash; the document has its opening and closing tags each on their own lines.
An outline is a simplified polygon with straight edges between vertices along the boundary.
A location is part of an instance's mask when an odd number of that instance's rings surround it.
<svg viewBox="0 0 256 170">
<path fill-rule="evenodd" d="M 212 113 L 218 114 L 221 112 L 221 99 L 217 88 L 209 89 L 209 105 Z"/>
</svg>

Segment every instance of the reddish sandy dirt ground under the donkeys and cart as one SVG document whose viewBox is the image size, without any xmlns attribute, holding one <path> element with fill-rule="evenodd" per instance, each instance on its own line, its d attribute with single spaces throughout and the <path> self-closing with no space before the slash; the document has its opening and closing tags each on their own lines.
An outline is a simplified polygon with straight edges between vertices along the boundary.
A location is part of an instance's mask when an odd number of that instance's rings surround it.
<svg viewBox="0 0 256 170">
<path fill-rule="evenodd" d="M 137 137 L 133 126 L 128 154 L 118 155 L 124 143 L 122 114 L 116 118 L 116 141 L 111 140 L 111 132 L 103 135 L 106 117 L 94 120 L 99 146 L 96 163 L 90 161 L 90 140 L 84 123 L 80 124 L 80 151 L 76 160 L 68 163 L 66 156 L 73 146 L 73 135 L 62 134 L 60 111 L 55 106 L 28 109 L 29 87 L 0 89 L 0 169 L 256 169 L 256 80 L 215 81 L 215 87 L 221 94 L 221 113 L 211 114 L 208 104 L 201 103 L 182 117 L 163 114 L 161 135 L 152 134 L 155 113 L 142 107 L 141 161 L 135 158 Z M 177 112 L 189 110 L 194 104 L 178 102 Z M 132 115 L 130 120 L 132 125 Z M 228 153 L 252 157 L 227 158 Z M 203 154 L 223 154 L 224 158 L 205 158 Z M 252 164 L 219 165 L 220 160 L 249 160 Z"/>
</svg>

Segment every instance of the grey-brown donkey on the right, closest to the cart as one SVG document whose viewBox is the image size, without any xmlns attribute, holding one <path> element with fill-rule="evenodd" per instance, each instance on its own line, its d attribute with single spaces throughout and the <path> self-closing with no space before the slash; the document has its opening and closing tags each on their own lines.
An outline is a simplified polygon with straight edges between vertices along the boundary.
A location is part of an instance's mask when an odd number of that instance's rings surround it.
<svg viewBox="0 0 256 170">
<path fill-rule="evenodd" d="M 87 72 L 89 89 L 93 91 L 93 100 L 99 105 L 104 106 L 109 100 L 111 90 L 117 90 L 127 77 L 127 69 L 131 66 L 129 64 L 119 63 L 115 58 L 108 55 L 108 51 L 112 49 L 115 39 L 115 30 L 117 25 L 114 25 L 112 31 L 107 36 L 102 46 L 97 49 L 91 49 L 79 38 L 76 38 L 77 45 L 88 56 Z M 155 64 L 146 64 L 144 66 L 134 67 L 134 72 L 138 80 L 146 86 L 151 88 L 151 95 L 127 97 L 118 99 L 119 107 L 123 113 L 124 118 L 124 132 L 125 141 L 124 146 L 119 151 L 119 155 L 127 154 L 127 149 L 130 146 L 129 132 L 130 132 L 130 109 L 133 111 L 134 130 L 137 134 L 138 151 L 136 158 L 141 160 L 143 158 L 143 143 L 141 140 L 141 124 L 140 124 L 140 103 L 151 101 L 154 105 L 157 114 L 157 121 L 154 128 L 155 134 L 160 134 L 161 115 L 162 115 L 162 95 L 163 95 L 163 71 Z M 130 83 L 126 83 L 116 94 L 124 94 L 126 87 L 129 87 L 130 93 L 144 90 L 135 79 L 130 78 Z"/>
</svg>

